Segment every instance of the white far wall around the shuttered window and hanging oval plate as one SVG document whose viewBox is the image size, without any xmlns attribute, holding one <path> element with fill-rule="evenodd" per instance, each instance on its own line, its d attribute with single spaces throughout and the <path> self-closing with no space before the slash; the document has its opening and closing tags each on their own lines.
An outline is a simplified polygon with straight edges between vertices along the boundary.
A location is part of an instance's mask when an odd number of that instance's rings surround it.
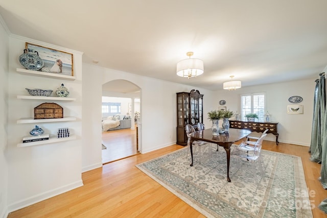
<svg viewBox="0 0 327 218">
<path fill-rule="evenodd" d="M 318 78 L 319 72 L 317 72 Z M 266 84 L 259 86 L 242 87 L 235 91 L 216 91 L 218 107 L 220 100 L 226 101 L 226 107 L 231 111 L 241 111 L 240 94 L 265 92 L 266 111 L 272 115 L 272 122 L 278 122 L 278 141 L 310 146 L 313 117 L 313 101 L 315 79 L 298 80 L 283 83 Z M 291 96 L 298 95 L 303 101 L 292 104 L 288 101 Z M 303 105 L 303 114 L 288 114 L 287 105 Z M 265 140 L 275 141 L 275 137 L 269 134 Z"/>
</svg>

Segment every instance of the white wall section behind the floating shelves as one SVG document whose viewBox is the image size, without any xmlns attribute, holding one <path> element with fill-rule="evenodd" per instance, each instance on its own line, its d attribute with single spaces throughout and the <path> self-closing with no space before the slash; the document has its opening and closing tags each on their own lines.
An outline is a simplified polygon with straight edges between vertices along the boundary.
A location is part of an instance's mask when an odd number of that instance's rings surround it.
<svg viewBox="0 0 327 218">
<path fill-rule="evenodd" d="M 18 57 L 25 49 L 25 42 L 51 47 L 73 53 L 75 81 L 42 78 L 18 74 L 22 68 Z M 33 117 L 34 107 L 44 100 L 17 99 L 17 95 L 28 95 L 25 88 L 56 90 L 64 83 L 70 97 L 77 101 L 55 102 L 63 107 L 64 116 L 75 116 L 73 122 L 17 124 L 22 117 Z M 9 42 L 9 124 L 8 124 L 8 210 L 13 211 L 43 199 L 83 185 L 82 171 L 82 53 L 56 45 L 11 35 Z M 49 101 L 48 101 L 49 102 Z M 77 140 L 17 148 L 17 143 L 35 125 L 45 132 L 56 135 L 58 128 L 68 127 Z"/>
</svg>

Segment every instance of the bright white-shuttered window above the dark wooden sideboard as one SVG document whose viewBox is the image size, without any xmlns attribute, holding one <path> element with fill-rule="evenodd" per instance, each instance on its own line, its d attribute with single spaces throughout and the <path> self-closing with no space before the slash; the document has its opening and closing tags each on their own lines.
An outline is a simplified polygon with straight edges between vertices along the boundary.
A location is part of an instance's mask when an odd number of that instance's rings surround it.
<svg viewBox="0 0 327 218">
<path fill-rule="evenodd" d="M 265 93 L 250 93 L 241 95 L 242 119 L 248 113 L 256 113 L 259 122 L 264 122 L 265 115 Z"/>
</svg>

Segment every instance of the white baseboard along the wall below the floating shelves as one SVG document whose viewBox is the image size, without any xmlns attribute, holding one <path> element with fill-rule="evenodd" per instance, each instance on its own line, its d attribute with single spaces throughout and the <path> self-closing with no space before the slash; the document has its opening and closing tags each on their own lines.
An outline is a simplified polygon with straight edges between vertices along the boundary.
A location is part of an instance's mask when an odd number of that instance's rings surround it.
<svg viewBox="0 0 327 218">
<path fill-rule="evenodd" d="M 82 180 L 76 181 L 74 183 L 71 183 L 71 184 L 68 184 L 68 185 L 65 185 L 65 186 L 50 190 L 50 191 L 39 193 L 38 195 L 32 196 L 32 197 L 27 198 L 27 199 L 20 200 L 20 201 L 18 201 L 16 203 L 13 203 L 13 204 L 9 205 L 7 211 L 10 213 L 10 212 L 19 210 L 21 208 L 30 206 L 32 204 L 43 201 L 45 199 L 49 199 L 49 198 L 52 198 L 54 196 L 60 195 L 61 193 L 73 190 L 73 189 L 78 188 L 80 186 L 83 186 L 83 181 Z"/>
</svg>

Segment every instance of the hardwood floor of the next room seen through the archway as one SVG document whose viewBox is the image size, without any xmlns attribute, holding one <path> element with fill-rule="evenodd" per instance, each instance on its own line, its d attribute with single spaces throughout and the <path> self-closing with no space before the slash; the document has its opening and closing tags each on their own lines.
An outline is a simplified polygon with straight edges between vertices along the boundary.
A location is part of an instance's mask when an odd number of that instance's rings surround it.
<svg viewBox="0 0 327 218">
<path fill-rule="evenodd" d="M 102 132 L 102 144 L 107 149 L 102 149 L 102 163 L 110 163 L 138 154 L 136 149 L 135 130 L 122 129 Z"/>
</svg>

